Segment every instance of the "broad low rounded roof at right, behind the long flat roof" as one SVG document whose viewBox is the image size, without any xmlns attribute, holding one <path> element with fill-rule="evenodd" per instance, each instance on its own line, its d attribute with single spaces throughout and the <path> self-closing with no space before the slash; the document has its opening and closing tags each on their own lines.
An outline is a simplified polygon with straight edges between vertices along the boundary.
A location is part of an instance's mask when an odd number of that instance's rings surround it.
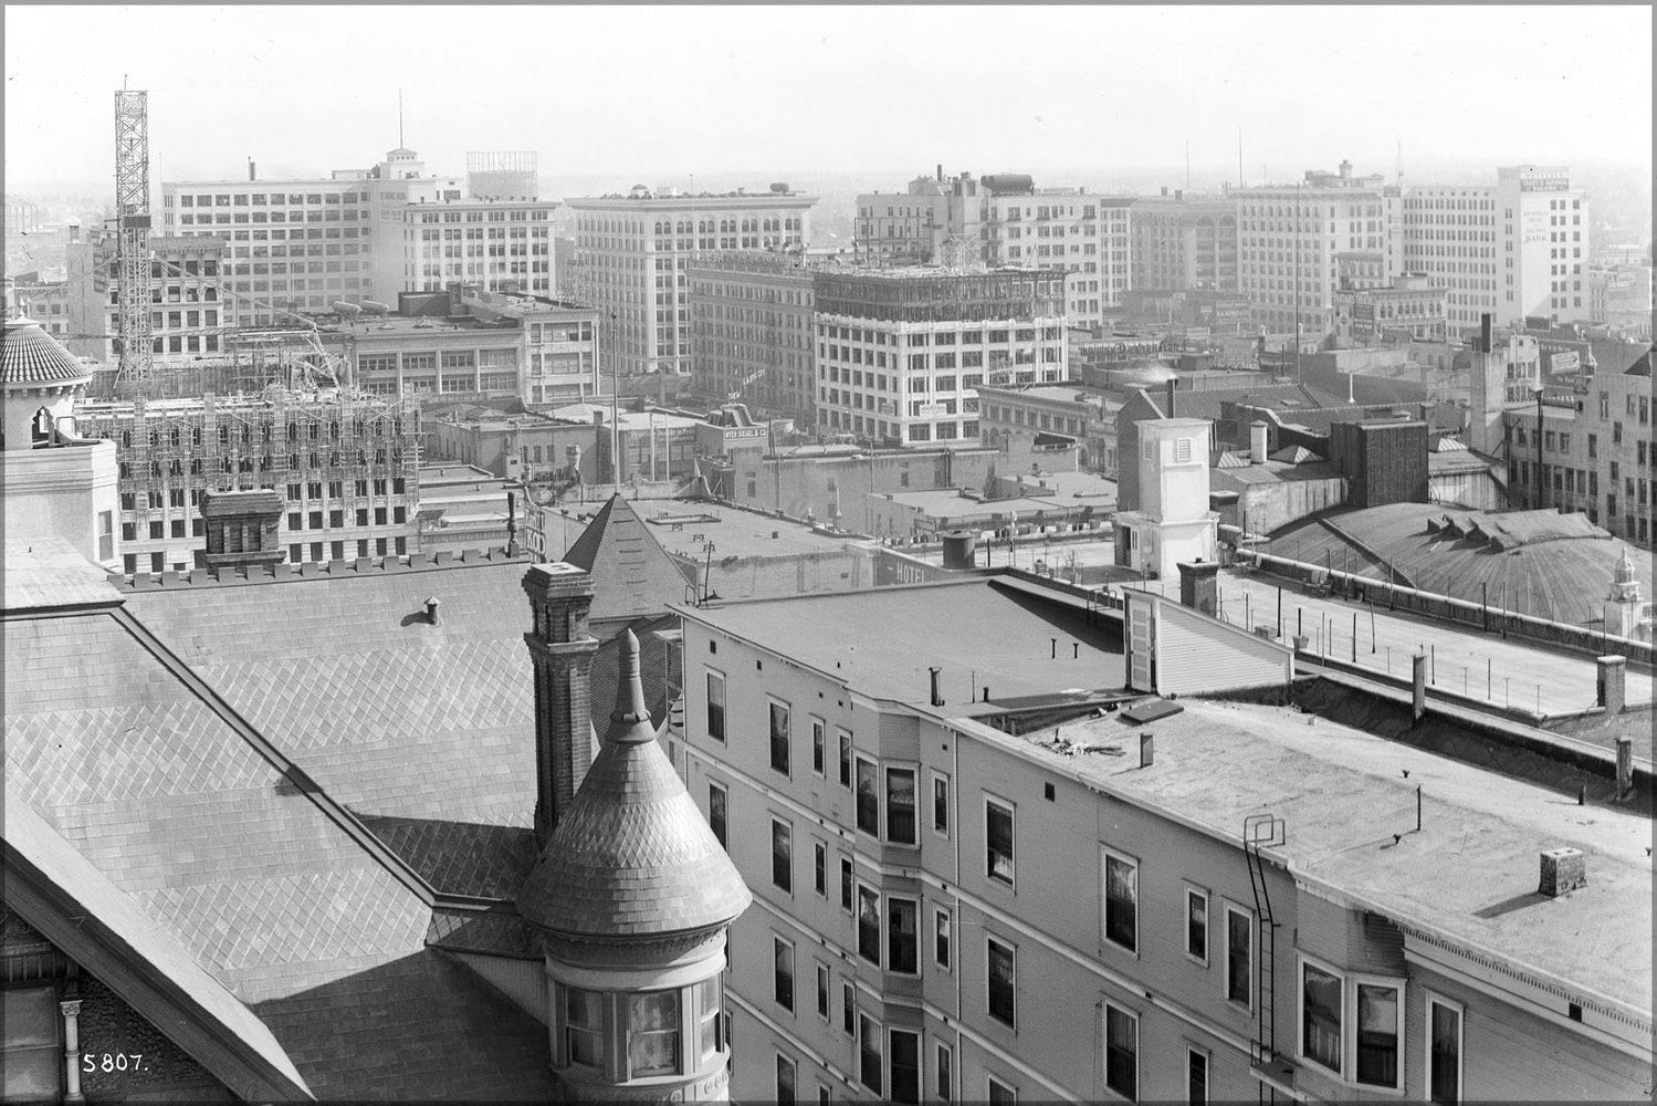
<svg viewBox="0 0 1657 1106">
<path fill-rule="evenodd" d="M 1428 522 L 1440 526 L 1445 517 L 1458 521 L 1453 531 L 1428 529 Z M 1470 521 L 1480 524 L 1478 532 L 1466 526 Z M 1601 615 L 1624 544 L 1582 516 L 1395 502 L 1289 526 L 1263 549 L 1311 564 L 1331 555 L 1334 564 L 1345 564 L 1347 551 L 1354 570 L 1367 577 L 1387 577 L 1375 564 L 1379 557 L 1410 587 L 1581 623 Z M 1640 579 L 1649 580 L 1650 552 L 1632 549 L 1630 557 Z"/>
</svg>

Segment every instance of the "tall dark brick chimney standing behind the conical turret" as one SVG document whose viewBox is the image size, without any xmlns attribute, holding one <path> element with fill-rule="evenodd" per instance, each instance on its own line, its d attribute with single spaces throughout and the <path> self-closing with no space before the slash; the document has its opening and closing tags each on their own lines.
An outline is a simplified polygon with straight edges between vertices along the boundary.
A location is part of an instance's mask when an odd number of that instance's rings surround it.
<svg viewBox="0 0 1657 1106">
<path fill-rule="evenodd" d="M 545 846 L 598 751 L 588 698 L 598 652 L 587 632 L 593 580 L 572 564 L 537 564 L 524 574 L 524 592 L 534 615 L 524 643 L 535 668 L 535 841 Z"/>
</svg>

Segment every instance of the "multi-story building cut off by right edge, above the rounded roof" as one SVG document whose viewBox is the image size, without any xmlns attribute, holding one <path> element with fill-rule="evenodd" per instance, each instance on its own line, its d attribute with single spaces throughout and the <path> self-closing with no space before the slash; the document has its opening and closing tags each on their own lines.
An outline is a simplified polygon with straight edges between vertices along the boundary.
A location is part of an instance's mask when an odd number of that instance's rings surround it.
<svg viewBox="0 0 1657 1106">
<path fill-rule="evenodd" d="M 1650 363 L 1647 353 L 1627 371 L 1594 373 L 1574 396 L 1544 395 L 1541 403 L 1503 411 L 1513 506 L 1581 511 L 1616 537 L 1652 547 Z"/>
</svg>

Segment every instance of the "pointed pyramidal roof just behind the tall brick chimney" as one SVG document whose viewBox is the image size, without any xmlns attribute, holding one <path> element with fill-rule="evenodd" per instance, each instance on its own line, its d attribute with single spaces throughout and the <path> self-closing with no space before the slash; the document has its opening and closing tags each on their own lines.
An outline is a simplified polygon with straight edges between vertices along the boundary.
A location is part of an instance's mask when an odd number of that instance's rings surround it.
<svg viewBox="0 0 1657 1106">
<path fill-rule="evenodd" d="M 593 574 L 588 622 L 658 615 L 668 604 L 684 602 L 689 577 L 620 494 L 587 524 L 563 560 Z"/>
</svg>

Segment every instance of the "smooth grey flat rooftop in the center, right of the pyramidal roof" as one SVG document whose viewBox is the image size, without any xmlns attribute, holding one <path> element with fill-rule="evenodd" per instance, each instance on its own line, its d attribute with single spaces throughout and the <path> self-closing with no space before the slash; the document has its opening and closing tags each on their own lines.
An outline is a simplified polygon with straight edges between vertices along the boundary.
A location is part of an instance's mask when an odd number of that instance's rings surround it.
<svg viewBox="0 0 1657 1106">
<path fill-rule="evenodd" d="M 933 665 L 948 703 L 986 685 L 1001 700 L 1123 683 L 1120 643 L 1102 627 L 994 577 L 676 610 L 873 698 L 925 705 Z"/>
</svg>

